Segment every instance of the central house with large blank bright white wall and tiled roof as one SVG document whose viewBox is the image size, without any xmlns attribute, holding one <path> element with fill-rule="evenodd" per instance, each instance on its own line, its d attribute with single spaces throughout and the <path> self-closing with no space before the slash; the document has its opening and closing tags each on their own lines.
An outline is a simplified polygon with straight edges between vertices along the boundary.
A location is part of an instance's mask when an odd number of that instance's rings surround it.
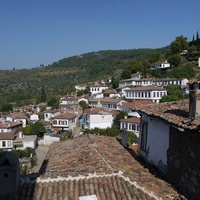
<svg viewBox="0 0 200 200">
<path fill-rule="evenodd" d="M 108 128 L 113 124 L 113 114 L 103 108 L 87 109 L 83 113 L 84 127 L 88 129 Z"/>
</svg>

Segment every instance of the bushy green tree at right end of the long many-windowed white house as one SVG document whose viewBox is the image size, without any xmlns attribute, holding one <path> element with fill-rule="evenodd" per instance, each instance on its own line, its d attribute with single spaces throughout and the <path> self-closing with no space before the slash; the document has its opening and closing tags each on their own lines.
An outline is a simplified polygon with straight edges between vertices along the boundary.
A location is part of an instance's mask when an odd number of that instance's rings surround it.
<svg viewBox="0 0 200 200">
<path fill-rule="evenodd" d="M 161 103 L 169 101 L 180 101 L 183 99 L 183 93 L 179 85 L 168 85 L 167 95 L 163 96 L 160 100 Z"/>
</svg>

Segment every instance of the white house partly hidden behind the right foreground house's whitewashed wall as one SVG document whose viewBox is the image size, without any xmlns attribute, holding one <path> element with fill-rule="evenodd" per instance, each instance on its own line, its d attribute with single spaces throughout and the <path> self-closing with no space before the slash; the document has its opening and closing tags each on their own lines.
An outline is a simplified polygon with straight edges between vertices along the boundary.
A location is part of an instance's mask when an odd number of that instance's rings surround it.
<svg viewBox="0 0 200 200">
<path fill-rule="evenodd" d="M 140 132 L 140 117 L 130 117 L 120 120 L 120 130 L 131 131 L 139 137 Z"/>
</svg>

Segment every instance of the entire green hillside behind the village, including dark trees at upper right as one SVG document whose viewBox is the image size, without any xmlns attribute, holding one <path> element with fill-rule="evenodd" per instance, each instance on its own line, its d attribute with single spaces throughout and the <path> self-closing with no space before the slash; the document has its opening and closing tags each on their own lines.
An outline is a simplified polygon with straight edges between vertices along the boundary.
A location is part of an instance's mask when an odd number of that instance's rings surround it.
<svg viewBox="0 0 200 200">
<path fill-rule="evenodd" d="M 185 49 L 188 53 L 181 55 Z M 159 49 L 103 50 L 63 58 L 48 66 L 1 70 L 0 105 L 39 103 L 42 88 L 48 99 L 71 94 L 77 83 L 90 85 L 110 76 L 117 82 L 130 78 L 136 71 L 143 77 L 191 78 L 199 74 L 199 57 L 199 37 L 188 42 L 187 38 L 179 36 L 169 46 Z M 149 69 L 152 63 L 165 60 L 171 63 L 170 69 Z"/>
</svg>

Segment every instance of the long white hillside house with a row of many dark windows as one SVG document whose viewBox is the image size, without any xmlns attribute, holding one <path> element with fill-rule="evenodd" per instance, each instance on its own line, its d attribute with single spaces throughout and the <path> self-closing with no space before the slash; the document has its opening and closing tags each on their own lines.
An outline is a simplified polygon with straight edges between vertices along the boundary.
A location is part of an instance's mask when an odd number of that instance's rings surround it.
<svg viewBox="0 0 200 200">
<path fill-rule="evenodd" d="M 160 99 L 167 95 L 167 90 L 156 86 L 134 87 L 124 91 L 123 97 L 127 100 L 148 99 L 159 103 Z"/>
</svg>

